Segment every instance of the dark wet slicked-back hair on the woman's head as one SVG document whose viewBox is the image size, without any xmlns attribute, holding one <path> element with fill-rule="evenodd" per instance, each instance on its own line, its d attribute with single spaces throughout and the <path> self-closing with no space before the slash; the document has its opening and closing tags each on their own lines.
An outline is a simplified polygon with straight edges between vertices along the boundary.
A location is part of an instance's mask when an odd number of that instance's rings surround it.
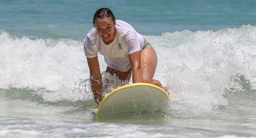
<svg viewBox="0 0 256 138">
<path fill-rule="evenodd" d="M 93 16 L 93 26 L 96 18 L 103 19 L 105 17 L 112 17 L 112 21 L 116 20 L 116 18 L 114 17 L 114 14 L 109 8 L 101 8 L 101 9 L 98 9 Z"/>
</svg>

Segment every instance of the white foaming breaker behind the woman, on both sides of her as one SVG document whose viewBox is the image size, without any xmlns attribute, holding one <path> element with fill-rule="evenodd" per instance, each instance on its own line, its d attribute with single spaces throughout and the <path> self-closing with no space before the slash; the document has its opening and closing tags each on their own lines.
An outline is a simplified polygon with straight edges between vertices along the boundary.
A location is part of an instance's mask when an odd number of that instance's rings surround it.
<svg viewBox="0 0 256 138">
<path fill-rule="evenodd" d="M 256 27 L 177 31 L 145 36 L 157 51 L 155 78 L 167 85 L 172 110 L 204 114 L 228 104 L 227 90 L 242 90 L 241 75 L 256 89 Z M 0 88 L 31 88 L 44 100 L 90 100 L 83 44 L 75 40 L 31 40 L 0 33 Z M 106 64 L 99 56 L 101 71 Z M 182 102 L 184 101 L 184 102 Z"/>
</svg>

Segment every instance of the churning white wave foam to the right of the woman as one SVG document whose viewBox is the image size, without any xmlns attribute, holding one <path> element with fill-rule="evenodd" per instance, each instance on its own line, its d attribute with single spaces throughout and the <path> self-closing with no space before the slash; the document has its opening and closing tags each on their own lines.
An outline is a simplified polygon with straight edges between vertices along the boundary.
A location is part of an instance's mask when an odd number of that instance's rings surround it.
<svg viewBox="0 0 256 138">
<path fill-rule="evenodd" d="M 230 88 L 243 90 L 239 83 L 249 83 L 247 87 L 255 90 L 255 33 L 255 26 L 248 25 L 163 33 L 155 40 L 148 36 L 160 55 L 156 76 L 167 80 L 170 96 L 179 100 L 170 104 L 170 110 L 183 116 L 211 115 L 228 104 L 225 95 Z M 237 74 L 247 82 L 234 82 Z"/>
</svg>

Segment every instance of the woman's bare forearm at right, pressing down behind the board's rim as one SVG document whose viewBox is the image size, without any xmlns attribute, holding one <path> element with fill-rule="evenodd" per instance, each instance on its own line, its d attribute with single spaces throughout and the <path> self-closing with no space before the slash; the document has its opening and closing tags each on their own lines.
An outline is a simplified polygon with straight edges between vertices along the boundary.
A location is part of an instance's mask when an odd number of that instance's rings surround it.
<svg viewBox="0 0 256 138">
<path fill-rule="evenodd" d="M 133 71 L 133 83 L 142 82 L 142 70 L 141 70 L 141 61 L 140 61 L 140 51 L 131 53 L 129 55 L 131 69 Z"/>
</svg>

